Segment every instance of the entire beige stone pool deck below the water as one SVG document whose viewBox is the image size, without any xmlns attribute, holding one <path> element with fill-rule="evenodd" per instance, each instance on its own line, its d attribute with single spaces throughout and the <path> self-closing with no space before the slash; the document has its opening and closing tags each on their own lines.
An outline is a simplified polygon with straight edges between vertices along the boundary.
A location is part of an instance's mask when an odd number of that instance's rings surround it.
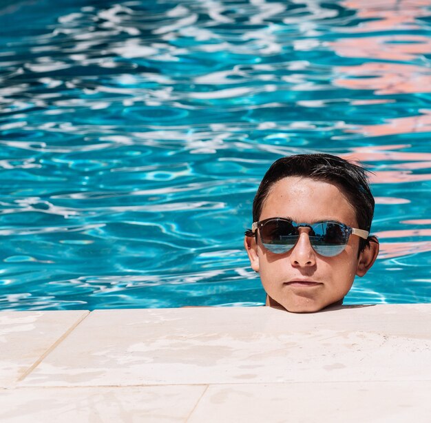
<svg viewBox="0 0 431 423">
<path fill-rule="evenodd" d="M 430 421 L 431 305 L 27 313 L 0 422 Z"/>
</svg>

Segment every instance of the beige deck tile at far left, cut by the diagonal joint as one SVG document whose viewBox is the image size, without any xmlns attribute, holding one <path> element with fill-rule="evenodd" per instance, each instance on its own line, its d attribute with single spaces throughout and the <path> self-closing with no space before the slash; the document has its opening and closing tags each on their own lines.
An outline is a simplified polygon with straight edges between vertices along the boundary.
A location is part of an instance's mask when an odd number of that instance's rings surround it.
<svg viewBox="0 0 431 423">
<path fill-rule="evenodd" d="M 88 311 L 1 311 L 0 388 L 14 386 Z"/>
</svg>

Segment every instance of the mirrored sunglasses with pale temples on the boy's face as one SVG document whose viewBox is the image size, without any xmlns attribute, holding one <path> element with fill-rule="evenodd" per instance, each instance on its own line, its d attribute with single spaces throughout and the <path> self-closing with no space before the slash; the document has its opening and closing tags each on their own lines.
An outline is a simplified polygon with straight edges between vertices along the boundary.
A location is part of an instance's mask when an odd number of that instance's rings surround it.
<svg viewBox="0 0 431 423">
<path fill-rule="evenodd" d="M 266 249 L 275 254 L 291 251 L 299 239 L 299 227 L 308 227 L 308 238 L 317 254 L 333 257 L 346 248 L 350 235 L 368 238 L 368 231 L 328 220 L 317 223 L 296 223 L 286 218 L 269 218 L 254 222 L 253 234 L 259 229 L 260 239 Z"/>
</svg>

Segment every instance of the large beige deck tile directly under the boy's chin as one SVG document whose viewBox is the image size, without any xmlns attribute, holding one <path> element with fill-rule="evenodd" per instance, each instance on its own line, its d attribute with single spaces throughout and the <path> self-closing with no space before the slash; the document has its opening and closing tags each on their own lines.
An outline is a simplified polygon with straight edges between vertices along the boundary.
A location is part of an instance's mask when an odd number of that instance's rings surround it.
<svg viewBox="0 0 431 423">
<path fill-rule="evenodd" d="M 19 386 L 431 381 L 430 311 L 94 311 Z"/>
</svg>

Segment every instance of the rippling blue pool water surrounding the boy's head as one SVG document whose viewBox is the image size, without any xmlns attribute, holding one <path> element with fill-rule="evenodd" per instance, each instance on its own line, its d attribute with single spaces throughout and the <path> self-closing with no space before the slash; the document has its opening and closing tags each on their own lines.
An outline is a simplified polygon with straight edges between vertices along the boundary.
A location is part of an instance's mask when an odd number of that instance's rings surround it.
<svg viewBox="0 0 431 423">
<path fill-rule="evenodd" d="M 276 158 L 372 176 L 346 303 L 430 302 L 423 1 L 0 3 L 0 308 L 262 305 L 242 249 Z"/>
</svg>

